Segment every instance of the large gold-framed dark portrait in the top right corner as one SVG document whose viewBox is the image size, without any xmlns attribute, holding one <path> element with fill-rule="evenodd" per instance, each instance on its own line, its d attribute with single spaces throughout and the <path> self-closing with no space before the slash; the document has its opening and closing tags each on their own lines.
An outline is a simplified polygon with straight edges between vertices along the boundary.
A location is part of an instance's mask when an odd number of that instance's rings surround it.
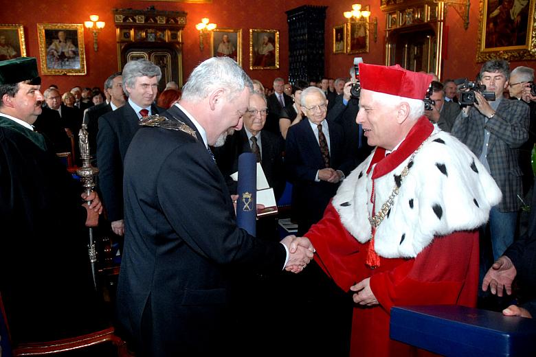
<svg viewBox="0 0 536 357">
<path fill-rule="evenodd" d="M 536 0 L 480 0 L 477 62 L 536 59 Z"/>
</svg>

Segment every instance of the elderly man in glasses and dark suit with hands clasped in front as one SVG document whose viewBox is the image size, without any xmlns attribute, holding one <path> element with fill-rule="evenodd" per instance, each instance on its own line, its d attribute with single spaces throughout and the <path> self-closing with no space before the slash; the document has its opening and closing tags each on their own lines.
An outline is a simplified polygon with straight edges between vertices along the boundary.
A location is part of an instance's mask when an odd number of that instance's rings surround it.
<svg viewBox="0 0 536 357">
<path fill-rule="evenodd" d="M 298 235 L 322 218 L 339 182 L 350 173 L 342 127 L 325 119 L 327 103 L 322 90 L 306 88 L 301 102 L 309 120 L 289 128 L 285 150 L 287 177 L 295 190 Z"/>
</svg>

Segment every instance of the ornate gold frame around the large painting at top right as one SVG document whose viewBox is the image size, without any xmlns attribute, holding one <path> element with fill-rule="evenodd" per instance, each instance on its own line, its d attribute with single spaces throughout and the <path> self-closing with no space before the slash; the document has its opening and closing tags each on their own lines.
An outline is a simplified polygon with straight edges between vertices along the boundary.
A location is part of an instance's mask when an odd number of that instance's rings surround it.
<svg viewBox="0 0 536 357">
<path fill-rule="evenodd" d="M 480 24 L 478 25 L 478 43 L 476 50 L 476 62 L 486 62 L 496 58 L 504 60 L 535 60 L 536 59 L 536 0 L 530 0 L 528 3 L 528 23 L 527 38 L 525 45 L 514 45 L 507 47 L 489 47 L 486 48 L 486 27 L 488 0 L 480 0 Z"/>
</svg>

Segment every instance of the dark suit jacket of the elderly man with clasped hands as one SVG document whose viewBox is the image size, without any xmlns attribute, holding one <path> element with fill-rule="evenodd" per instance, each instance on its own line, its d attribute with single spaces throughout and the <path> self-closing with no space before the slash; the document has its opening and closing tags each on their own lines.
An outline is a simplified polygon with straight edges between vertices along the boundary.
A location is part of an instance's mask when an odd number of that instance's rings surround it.
<svg viewBox="0 0 536 357">
<path fill-rule="evenodd" d="M 350 161 L 345 152 L 342 127 L 328 122 L 330 166 L 350 173 Z M 338 183 L 315 182 L 318 170 L 325 168 L 320 146 L 308 119 L 291 126 L 287 133 L 284 157 L 287 178 L 293 184 L 293 210 L 298 213 L 298 234 L 305 233 L 324 214 L 329 200 L 337 192 Z"/>
</svg>

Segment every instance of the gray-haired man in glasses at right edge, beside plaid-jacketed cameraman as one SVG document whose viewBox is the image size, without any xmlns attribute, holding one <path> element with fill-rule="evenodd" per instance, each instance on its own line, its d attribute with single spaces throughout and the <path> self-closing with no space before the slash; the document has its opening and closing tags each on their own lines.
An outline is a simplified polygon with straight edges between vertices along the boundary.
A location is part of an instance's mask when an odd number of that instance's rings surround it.
<svg viewBox="0 0 536 357">
<path fill-rule="evenodd" d="M 528 194 L 533 186 L 533 167 L 531 165 L 532 151 L 536 142 L 536 96 L 531 95 L 531 85 L 534 82 L 534 69 L 515 67 L 510 73 L 508 91 L 510 99 L 528 104 L 531 124 L 528 128 L 528 140 L 520 148 L 520 167 L 523 172 L 523 193 Z"/>
</svg>

